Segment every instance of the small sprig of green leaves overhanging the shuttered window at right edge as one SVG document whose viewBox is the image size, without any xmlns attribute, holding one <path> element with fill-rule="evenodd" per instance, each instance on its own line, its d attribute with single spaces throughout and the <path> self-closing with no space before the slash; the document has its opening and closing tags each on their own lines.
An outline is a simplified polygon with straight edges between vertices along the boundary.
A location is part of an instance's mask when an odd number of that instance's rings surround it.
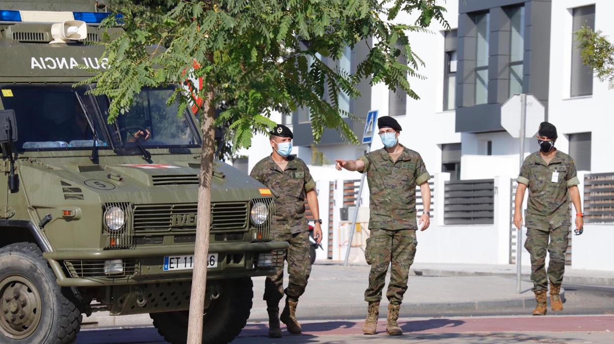
<svg viewBox="0 0 614 344">
<path fill-rule="evenodd" d="M 600 81 L 607 80 L 608 88 L 614 88 L 614 44 L 601 31 L 583 27 L 575 33 L 582 61 L 594 69 Z"/>
</svg>

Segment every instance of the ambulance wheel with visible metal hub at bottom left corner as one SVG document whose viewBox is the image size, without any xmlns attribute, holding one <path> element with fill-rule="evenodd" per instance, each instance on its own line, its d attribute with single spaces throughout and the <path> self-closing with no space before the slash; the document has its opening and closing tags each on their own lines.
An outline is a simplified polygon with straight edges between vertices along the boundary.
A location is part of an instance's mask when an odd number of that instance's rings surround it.
<svg viewBox="0 0 614 344">
<path fill-rule="evenodd" d="M 0 332 L 2 343 L 68 344 L 77 338 L 81 311 L 56 283 L 33 243 L 0 249 Z"/>
</svg>

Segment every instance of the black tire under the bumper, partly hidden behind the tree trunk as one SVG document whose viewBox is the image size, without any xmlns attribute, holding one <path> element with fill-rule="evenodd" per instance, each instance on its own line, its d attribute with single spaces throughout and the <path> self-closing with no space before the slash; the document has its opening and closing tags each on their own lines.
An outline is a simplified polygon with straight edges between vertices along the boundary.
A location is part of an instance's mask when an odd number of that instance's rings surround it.
<svg viewBox="0 0 614 344">
<path fill-rule="evenodd" d="M 241 333 L 249 319 L 254 298 L 251 278 L 224 279 L 220 296 L 211 301 L 203 318 L 203 344 L 230 343 Z M 188 311 L 150 313 L 153 326 L 171 344 L 185 344 L 188 331 Z"/>
</svg>

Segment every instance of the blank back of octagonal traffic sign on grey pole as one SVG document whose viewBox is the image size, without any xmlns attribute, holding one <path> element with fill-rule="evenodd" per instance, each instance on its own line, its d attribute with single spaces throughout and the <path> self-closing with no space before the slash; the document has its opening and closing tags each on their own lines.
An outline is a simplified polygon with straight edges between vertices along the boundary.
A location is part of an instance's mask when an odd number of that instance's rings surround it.
<svg viewBox="0 0 614 344">
<path fill-rule="evenodd" d="M 501 125 L 514 138 L 520 137 L 520 115 L 522 112 L 521 95 L 513 95 L 501 106 Z M 534 95 L 526 95 L 525 137 L 533 137 L 543 122 L 545 108 Z"/>
</svg>

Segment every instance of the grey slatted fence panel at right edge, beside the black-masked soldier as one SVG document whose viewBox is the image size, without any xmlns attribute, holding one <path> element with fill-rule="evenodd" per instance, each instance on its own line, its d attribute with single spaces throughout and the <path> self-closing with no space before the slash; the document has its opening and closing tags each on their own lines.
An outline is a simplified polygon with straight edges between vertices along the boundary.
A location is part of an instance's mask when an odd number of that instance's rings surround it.
<svg viewBox="0 0 614 344">
<path fill-rule="evenodd" d="M 585 175 L 584 222 L 614 222 L 614 173 Z"/>
</svg>

